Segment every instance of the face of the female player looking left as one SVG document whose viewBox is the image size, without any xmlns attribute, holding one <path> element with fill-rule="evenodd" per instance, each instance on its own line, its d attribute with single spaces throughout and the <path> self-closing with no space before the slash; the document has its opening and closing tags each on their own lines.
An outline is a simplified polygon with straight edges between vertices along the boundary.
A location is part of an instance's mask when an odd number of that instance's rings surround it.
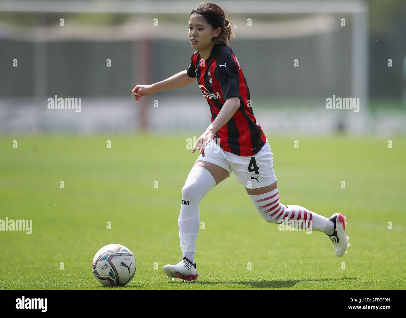
<svg viewBox="0 0 406 318">
<path fill-rule="evenodd" d="M 212 37 L 217 37 L 220 34 L 221 28 L 213 30 L 203 16 L 200 14 L 192 14 L 189 19 L 189 40 L 190 45 L 195 50 L 203 50 L 213 45 Z M 192 42 L 192 38 L 196 42 Z"/>
</svg>

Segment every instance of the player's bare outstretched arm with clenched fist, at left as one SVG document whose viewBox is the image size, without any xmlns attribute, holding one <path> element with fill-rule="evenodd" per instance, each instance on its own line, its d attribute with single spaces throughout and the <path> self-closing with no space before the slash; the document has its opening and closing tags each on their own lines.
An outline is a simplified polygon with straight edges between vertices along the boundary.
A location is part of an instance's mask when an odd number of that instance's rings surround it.
<svg viewBox="0 0 406 318">
<path fill-rule="evenodd" d="M 139 100 L 141 96 L 147 96 L 160 91 L 167 91 L 169 89 L 177 89 L 196 81 L 195 77 L 189 77 L 186 73 L 187 70 L 181 71 L 166 80 L 151 85 L 138 84 L 132 90 L 132 95 L 136 100 Z"/>
</svg>

